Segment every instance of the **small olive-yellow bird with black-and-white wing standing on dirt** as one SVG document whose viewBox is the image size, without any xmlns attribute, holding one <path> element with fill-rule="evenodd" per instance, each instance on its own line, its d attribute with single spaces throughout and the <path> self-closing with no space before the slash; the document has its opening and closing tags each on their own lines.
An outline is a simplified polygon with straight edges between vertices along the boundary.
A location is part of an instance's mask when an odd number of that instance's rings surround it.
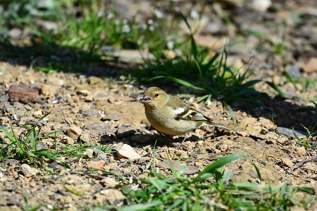
<svg viewBox="0 0 317 211">
<path fill-rule="evenodd" d="M 145 108 L 145 115 L 150 124 L 159 132 L 168 135 L 185 135 L 203 126 L 227 127 L 215 124 L 212 119 L 191 108 L 181 99 L 166 94 L 156 86 L 147 88 L 139 99 Z"/>
</svg>

